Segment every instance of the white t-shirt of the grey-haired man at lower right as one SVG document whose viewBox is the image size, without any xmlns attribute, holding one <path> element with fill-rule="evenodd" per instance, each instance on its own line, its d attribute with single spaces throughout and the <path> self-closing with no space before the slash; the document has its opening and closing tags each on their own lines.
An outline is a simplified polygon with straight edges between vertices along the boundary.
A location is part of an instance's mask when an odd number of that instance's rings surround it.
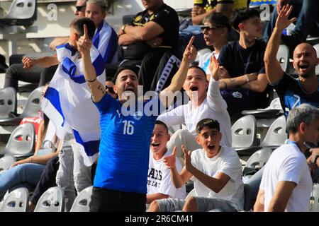
<svg viewBox="0 0 319 226">
<path fill-rule="evenodd" d="M 296 144 L 281 145 L 274 150 L 264 166 L 260 189 L 264 190 L 264 210 L 269 203 L 280 181 L 295 182 L 291 197 L 286 206 L 286 212 L 303 212 L 310 210 L 310 194 L 313 181 L 305 155 Z"/>
</svg>

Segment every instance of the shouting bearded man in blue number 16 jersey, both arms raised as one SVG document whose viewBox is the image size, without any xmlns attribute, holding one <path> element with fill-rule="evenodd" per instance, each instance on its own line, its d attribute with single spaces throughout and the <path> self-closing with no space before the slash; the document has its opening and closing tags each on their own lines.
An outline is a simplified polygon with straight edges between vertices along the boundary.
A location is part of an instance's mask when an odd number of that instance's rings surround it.
<svg viewBox="0 0 319 226">
<path fill-rule="evenodd" d="M 85 30 L 86 28 L 84 28 Z M 168 93 L 181 90 L 191 61 L 196 57 L 192 47 L 194 37 L 184 52 L 179 71 L 172 83 L 151 100 L 138 99 L 138 76 L 132 69 L 118 69 L 114 90 L 118 100 L 108 95 L 105 86 L 96 80 L 89 49 L 91 41 L 86 34 L 79 39 L 86 83 L 92 100 L 100 112 L 101 143 L 90 211 L 145 211 L 147 194 L 147 168 L 150 138 L 161 105 L 167 107 Z M 128 95 L 129 94 L 129 100 Z M 132 102 L 135 105 L 126 105 Z M 171 98 L 172 100 L 172 98 Z M 138 105 L 136 111 L 135 106 Z M 150 109 L 149 112 L 142 111 Z M 125 114 L 134 109 L 133 114 Z"/>
</svg>

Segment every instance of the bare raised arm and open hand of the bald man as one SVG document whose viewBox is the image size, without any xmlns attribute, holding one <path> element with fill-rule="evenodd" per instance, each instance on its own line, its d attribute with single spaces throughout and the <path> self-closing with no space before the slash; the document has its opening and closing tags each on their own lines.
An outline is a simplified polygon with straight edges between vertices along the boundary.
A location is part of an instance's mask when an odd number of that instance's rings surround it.
<svg viewBox="0 0 319 226">
<path fill-rule="evenodd" d="M 281 69 L 276 56 L 279 49 L 282 31 L 296 20 L 296 18 L 288 20 L 292 7 L 293 6 L 289 6 L 289 4 L 287 4 L 281 9 L 276 20 L 274 31 L 272 32 L 272 36 L 270 37 L 266 51 L 264 52 L 264 66 L 269 83 L 277 83 L 284 75 L 284 71 Z"/>
</svg>

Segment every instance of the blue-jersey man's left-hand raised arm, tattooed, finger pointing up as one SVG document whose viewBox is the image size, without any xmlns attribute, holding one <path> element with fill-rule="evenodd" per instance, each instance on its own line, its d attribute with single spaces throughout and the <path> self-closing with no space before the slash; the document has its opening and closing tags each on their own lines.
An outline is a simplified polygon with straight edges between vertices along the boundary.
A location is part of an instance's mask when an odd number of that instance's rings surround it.
<svg viewBox="0 0 319 226">
<path fill-rule="evenodd" d="M 86 25 L 84 25 L 84 35 L 77 41 L 77 46 L 79 52 L 81 52 L 82 54 L 84 78 L 91 90 L 92 99 L 94 102 L 99 102 L 102 99 L 103 95 L 106 94 L 106 90 L 104 85 L 96 80 L 96 71 L 91 62 L 91 45 L 92 41 L 89 40 L 89 36 L 87 35 L 87 28 Z"/>
</svg>

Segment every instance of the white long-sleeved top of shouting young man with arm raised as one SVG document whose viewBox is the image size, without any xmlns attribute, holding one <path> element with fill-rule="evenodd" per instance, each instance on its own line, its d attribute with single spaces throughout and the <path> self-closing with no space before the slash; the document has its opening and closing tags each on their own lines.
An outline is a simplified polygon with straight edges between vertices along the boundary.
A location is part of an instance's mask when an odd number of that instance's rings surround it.
<svg viewBox="0 0 319 226">
<path fill-rule="evenodd" d="M 227 103 L 220 95 L 219 81 L 213 78 L 209 80 L 207 97 L 201 105 L 193 107 L 191 101 L 187 105 L 181 105 L 169 112 L 160 114 L 157 120 L 163 121 L 167 126 L 186 124 L 187 130 L 196 137 L 196 125 L 201 119 L 215 119 L 220 124 L 222 139 L 220 145 L 231 147 L 232 131 L 230 117 L 227 111 Z"/>
</svg>

